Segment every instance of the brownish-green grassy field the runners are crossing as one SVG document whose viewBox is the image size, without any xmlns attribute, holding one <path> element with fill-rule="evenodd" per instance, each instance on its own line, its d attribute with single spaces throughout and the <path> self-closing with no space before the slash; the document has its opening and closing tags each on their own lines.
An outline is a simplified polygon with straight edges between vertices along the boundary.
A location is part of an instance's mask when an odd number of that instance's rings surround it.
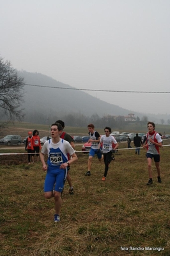
<svg viewBox="0 0 170 256">
<path fill-rule="evenodd" d="M 75 193 L 68 194 L 66 183 L 59 223 L 54 200 L 43 197 L 42 164 L 28 166 L 27 155 L 0 155 L 0 256 L 169 256 L 170 148 L 160 149 L 162 184 L 153 166 L 151 186 L 144 149 L 138 156 L 124 148 L 121 142 L 105 182 L 104 163 L 95 157 L 91 176 L 84 176 L 88 154 L 77 153 L 70 167 Z"/>
</svg>

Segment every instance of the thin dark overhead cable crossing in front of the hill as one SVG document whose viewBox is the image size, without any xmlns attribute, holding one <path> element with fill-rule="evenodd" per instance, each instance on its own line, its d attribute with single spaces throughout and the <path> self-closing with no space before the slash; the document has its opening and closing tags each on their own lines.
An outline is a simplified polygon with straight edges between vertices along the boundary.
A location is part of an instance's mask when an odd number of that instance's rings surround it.
<svg viewBox="0 0 170 256">
<path fill-rule="evenodd" d="M 66 87 L 54 87 L 47 85 L 31 85 L 29 83 L 24 83 L 24 85 L 34 86 L 34 87 L 44 87 L 44 88 L 52 88 L 52 89 L 64 89 L 64 90 L 89 90 L 93 92 L 128 92 L 128 93 L 170 93 L 170 92 L 151 92 L 151 91 L 139 91 L 139 90 L 99 90 L 99 89 L 77 89 L 77 88 L 66 88 Z"/>
</svg>

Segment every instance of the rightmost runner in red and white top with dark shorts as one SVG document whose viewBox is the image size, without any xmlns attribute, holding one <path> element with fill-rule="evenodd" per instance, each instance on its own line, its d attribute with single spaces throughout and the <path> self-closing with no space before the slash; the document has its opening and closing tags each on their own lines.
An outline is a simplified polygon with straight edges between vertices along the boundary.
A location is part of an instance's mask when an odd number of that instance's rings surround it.
<svg viewBox="0 0 170 256">
<path fill-rule="evenodd" d="M 160 154 L 159 154 L 159 148 L 162 147 L 162 139 L 160 135 L 155 132 L 155 123 L 148 122 L 148 133 L 146 134 L 146 144 L 143 146 L 143 148 L 147 149 L 146 157 L 148 161 L 148 175 L 149 175 L 149 181 L 147 185 L 151 185 L 153 183 L 152 180 L 152 172 L 151 172 L 151 161 L 152 158 L 155 162 L 155 167 L 157 168 L 157 178 L 158 183 L 161 183 L 162 180 L 160 178 Z"/>
</svg>

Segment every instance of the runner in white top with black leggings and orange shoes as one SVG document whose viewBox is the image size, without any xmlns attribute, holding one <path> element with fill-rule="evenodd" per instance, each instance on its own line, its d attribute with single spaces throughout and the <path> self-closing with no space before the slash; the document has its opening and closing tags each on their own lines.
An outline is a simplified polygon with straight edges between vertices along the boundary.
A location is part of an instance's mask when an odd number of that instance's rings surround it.
<svg viewBox="0 0 170 256">
<path fill-rule="evenodd" d="M 119 146 L 116 139 L 110 135 L 112 132 L 110 127 L 106 126 L 104 129 L 104 132 L 105 132 L 105 135 L 102 135 L 102 137 L 100 138 L 100 143 L 98 145 L 98 149 L 100 149 L 100 146 L 102 144 L 102 153 L 104 154 L 105 171 L 104 171 L 104 176 L 102 178 L 103 181 L 105 181 L 107 172 L 109 170 L 109 164 L 112 160 L 112 153 Z M 112 148 L 113 145 L 114 145 L 114 148 Z"/>
</svg>

